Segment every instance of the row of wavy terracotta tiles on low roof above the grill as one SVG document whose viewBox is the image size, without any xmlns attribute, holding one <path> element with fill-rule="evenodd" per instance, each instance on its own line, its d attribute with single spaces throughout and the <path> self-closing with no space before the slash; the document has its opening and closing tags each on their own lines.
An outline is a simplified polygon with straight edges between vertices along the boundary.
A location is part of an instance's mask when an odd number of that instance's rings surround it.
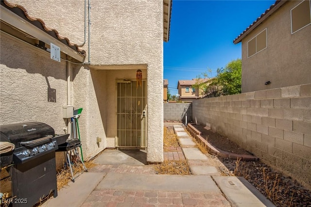
<svg viewBox="0 0 311 207">
<path fill-rule="evenodd" d="M 4 3 L 4 5 L 2 4 L 2 2 Z M 29 16 L 27 10 L 23 6 L 15 3 L 10 3 L 7 0 L 1 0 L 1 5 L 6 6 L 6 8 L 10 9 L 10 11 L 12 11 L 13 13 L 32 23 L 37 28 L 51 35 L 52 37 L 74 49 L 75 51 L 81 53 L 84 56 L 86 55 L 86 51 L 84 49 L 81 49 L 77 44 L 70 42 L 68 37 L 60 35 L 57 30 L 47 27 L 42 19 Z"/>
</svg>

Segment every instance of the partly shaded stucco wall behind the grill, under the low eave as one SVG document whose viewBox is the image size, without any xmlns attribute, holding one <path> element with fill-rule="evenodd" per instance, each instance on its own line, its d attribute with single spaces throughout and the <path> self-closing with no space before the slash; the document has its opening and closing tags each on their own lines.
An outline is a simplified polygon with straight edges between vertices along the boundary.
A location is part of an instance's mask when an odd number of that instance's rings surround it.
<svg viewBox="0 0 311 207">
<path fill-rule="evenodd" d="M 67 123 L 66 62 L 50 59 L 50 54 L 1 33 L 0 36 L 0 125 L 43 122 L 64 134 Z M 56 90 L 56 102 L 48 102 L 49 88 Z M 64 161 L 56 153 L 57 166 Z"/>
</svg>

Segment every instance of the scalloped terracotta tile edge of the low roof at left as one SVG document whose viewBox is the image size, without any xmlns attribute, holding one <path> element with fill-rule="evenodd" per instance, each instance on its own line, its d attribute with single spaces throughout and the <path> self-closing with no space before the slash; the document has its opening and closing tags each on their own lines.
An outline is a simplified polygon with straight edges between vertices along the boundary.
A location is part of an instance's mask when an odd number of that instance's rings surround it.
<svg viewBox="0 0 311 207">
<path fill-rule="evenodd" d="M 45 22 L 44 22 L 42 19 L 36 18 L 36 17 L 33 17 L 33 16 L 30 16 L 30 15 L 28 14 L 28 12 L 27 12 L 27 9 L 25 9 L 25 7 L 23 7 L 23 6 L 19 5 L 19 4 L 16 4 L 16 3 L 10 3 L 10 2 L 8 2 L 7 0 L 1 0 L 1 1 L 3 1 L 3 3 L 4 3 L 7 7 L 9 7 L 9 8 L 12 8 L 12 9 L 13 9 L 13 8 L 18 8 L 18 9 L 20 9 L 20 10 L 24 13 L 24 15 L 27 17 L 27 19 L 29 19 L 31 22 L 34 22 L 34 21 L 40 22 L 40 24 L 42 25 L 43 29 L 45 30 L 45 32 L 46 32 L 47 34 L 49 34 L 48 32 L 54 32 L 55 35 L 57 36 L 57 39 L 58 39 L 60 42 L 62 42 L 62 40 L 66 40 L 66 42 L 67 42 L 67 44 L 68 44 L 68 46 L 69 46 L 70 48 L 75 47 L 76 49 L 74 49 L 74 48 L 72 48 L 72 49 L 76 50 L 77 52 L 79 52 L 79 53 L 82 54 L 83 56 L 86 56 L 86 50 L 81 49 L 81 48 L 78 47 L 77 44 L 70 42 L 70 40 L 69 40 L 68 37 L 65 37 L 65 36 L 60 35 L 59 32 L 58 32 L 57 30 L 55 30 L 55 29 L 53 29 L 53 28 L 47 27 L 47 26 L 45 25 Z M 12 11 L 12 10 L 11 10 L 11 11 Z M 13 11 L 12 11 L 12 12 L 13 12 Z M 13 13 L 15 13 L 15 12 L 13 12 Z M 15 14 L 16 14 L 16 13 L 15 13 Z M 18 15 L 18 14 L 16 14 L 16 15 Z M 18 16 L 19 16 L 19 15 L 18 15 Z M 21 17 L 22 17 L 22 16 L 21 16 Z M 33 24 L 33 25 L 35 26 L 35 24 Z M 36 27 L 36 26 L 35 26 L 35 27 Z M 51 34 L 49 34 L 49 35 L 52 36 Z M 53 36 L 52 36 L 52 37 L 53 37 Z M 62 42 L 62 43 L 63 43 L 63 42 Z"/>
</svg>

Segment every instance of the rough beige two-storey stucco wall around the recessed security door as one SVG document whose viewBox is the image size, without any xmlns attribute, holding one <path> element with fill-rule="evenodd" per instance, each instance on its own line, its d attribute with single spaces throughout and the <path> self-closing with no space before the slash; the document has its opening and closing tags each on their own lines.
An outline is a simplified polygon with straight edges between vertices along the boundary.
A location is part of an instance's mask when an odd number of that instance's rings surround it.
<svg viewBox="0 0 311 207">
<path fill-rule="evenodd" d="M 10 2 L 23 5 L 31 16 L 43 19 L 48 27 L 57 29 L 70 41 L 77 44 L 83 42 L 84 1 Z M 114 110 L 110 109 L 114 108 L 111 94 L 115 93 L 115 74 L 121 77 L 120 69 L 131 66 L 131 69 L 137 70 L 143 65 L 147 79 L 147 161 L 163 161 L 163 1 L 92 0 L 90 6 L 90 64 L 73 65 L 74 76 L 71 79 L 73 106 L 83 108 L 79 120 L 83 149 L 87 156 L 92 157 L 107 146 L 106 137 L 109 145 L 113 145 L 115 135 L 112 131 L 115 127 L 111 120 L 115 119 L 115 114 L 112 115 Z M 83 47 L 86 51 L 87 43 L 86 36 Z M 111 74 L 101 69 L 115 72 Z M 112 91 L 107 91 L 105 87 Z M 99 145 L 96 143 L 97 136 L 102 138 Z"/>
</svg>

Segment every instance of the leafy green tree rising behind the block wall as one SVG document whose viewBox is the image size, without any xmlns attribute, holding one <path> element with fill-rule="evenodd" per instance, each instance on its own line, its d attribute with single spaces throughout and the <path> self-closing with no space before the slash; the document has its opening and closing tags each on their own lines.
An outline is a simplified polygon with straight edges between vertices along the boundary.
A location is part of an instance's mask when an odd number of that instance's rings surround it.
<svg viewBox="0 0 311 207">
<path fill-rule="evenodd" d="M 208 70 L 211 74 L 211 70 Z M 208 78 L 207 73 L 203 73 L 204 79 Z M 225 68 L 218 68 L 217 75 L 208 81 L 202 81 L 201 76 L 197 77 L 196 84 L 201 91 L 201 96 L 217 97 L 241 93 L 242 60 L 237 59 L 229 62 Z"/>
</svg>

